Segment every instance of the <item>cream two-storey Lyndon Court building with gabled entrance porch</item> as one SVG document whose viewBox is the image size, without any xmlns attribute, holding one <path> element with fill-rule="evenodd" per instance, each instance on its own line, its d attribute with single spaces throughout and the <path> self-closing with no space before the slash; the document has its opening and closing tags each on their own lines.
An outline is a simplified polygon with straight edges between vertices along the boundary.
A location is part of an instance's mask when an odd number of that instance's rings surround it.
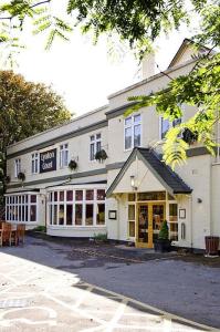
<svg viewBox="0 0 220 332">
<path fill-rule="evenodd" d="M 220 236 L 219 155 L 193 143 L 187 163 L 174 172 L 161 159 L 161 145 L 177 122 L 154 107 L 124 116 L 129 96 L 166 89 L 168 76 L 189 73 L 193 52 L 186 39 L 165 74 L 153 74 L 154 62 L 145 59 L 143 80 L 109 95 L 107 105 L 10 145 L 7 220 L 44 225 L 51 236 L 106 234 L 144 248 L 154 247 L 165 219 L 177 247 L 203 249 L 206 236 Z M 179 122 L 198 111 L 182 108 Z"/>
</svg>

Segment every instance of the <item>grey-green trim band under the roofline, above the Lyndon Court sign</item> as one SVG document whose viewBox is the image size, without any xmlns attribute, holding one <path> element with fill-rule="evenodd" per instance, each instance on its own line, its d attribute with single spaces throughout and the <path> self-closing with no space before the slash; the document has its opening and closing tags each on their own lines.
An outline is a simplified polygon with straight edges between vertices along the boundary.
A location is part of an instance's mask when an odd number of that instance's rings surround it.
<svg viewBox="0 0 220 332">
<path fill-rule="evenodd" d="M 70 138 L 73 138 L 73 137 L 76 137 L 76 136 L 80 136 L 80 135 L 83 135 L 83 134 L 87 134 L 90 132 L 93 132 L 93 131 L 96 131 L 96 129 L 99 129 L 99 128 L 103 128 L 103 127 L 107 127 L 107 120 L 103 120 L 103 121 L 99 121 L 99 122 L 97 122 L 95 124 L 92 124 L 92 125 L 78 128 L 78 129 L 76 129 L 74 132 L 70 132 L 70 133 L 61 135 L 61 136 L 59 136 L 56 138 L 52 138 L 52 139 L 43 142 L 43 143 L 32 145 L 31 147 L 27 147 L 27 148 L 20 149 L 20 151 L 15 152 L 15 153 L 7 154 L 7 158 L 8 159 L 12 159 L 14 157 L 24 155 L 24 154 L 30 153 L 32 151 L 42 149 L 42 148 L 52 146 L 52 145 L 54 145 L 54 144 L 56 144 L 59 142 L 66 141 L 66 139 L 70 139 Z M 43 133 L 42 133 L 42 135 L 43 135 Z M 33 138 L 34 138 L 34 136 L 32 137 L 32 139 Z M 18 142 L 18 144 L 19 144 L 19 142 Z"/>
</svg>

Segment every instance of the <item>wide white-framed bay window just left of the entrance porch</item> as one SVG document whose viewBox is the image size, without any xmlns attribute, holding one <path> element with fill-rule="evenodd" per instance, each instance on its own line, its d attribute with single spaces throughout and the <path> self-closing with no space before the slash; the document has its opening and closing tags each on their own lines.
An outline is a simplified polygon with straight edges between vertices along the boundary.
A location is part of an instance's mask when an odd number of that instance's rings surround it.
<svg viewBox="0 0 220 332">
<path fill-rule="evenodd" d="M 50 225 L 105 225 L 105 189 L 62 189 L 49 193 Z"/>
</svg>

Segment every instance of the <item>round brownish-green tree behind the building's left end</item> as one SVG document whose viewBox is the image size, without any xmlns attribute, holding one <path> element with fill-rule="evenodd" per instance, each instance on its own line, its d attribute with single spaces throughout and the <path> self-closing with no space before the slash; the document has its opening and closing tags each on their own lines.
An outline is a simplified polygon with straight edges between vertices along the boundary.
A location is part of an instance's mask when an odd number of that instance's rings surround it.
<svg viewBox="0 0 220 332">
<path fill-rule="evenodd" d="M 0 72 L 0 181 L 4 191 L 7 146 L 71 120 L 63 100 L 44 84 L 27 82 L 12 71 Z M 2 197 L 1 197 L 2 200 Z"/>
</svg>

